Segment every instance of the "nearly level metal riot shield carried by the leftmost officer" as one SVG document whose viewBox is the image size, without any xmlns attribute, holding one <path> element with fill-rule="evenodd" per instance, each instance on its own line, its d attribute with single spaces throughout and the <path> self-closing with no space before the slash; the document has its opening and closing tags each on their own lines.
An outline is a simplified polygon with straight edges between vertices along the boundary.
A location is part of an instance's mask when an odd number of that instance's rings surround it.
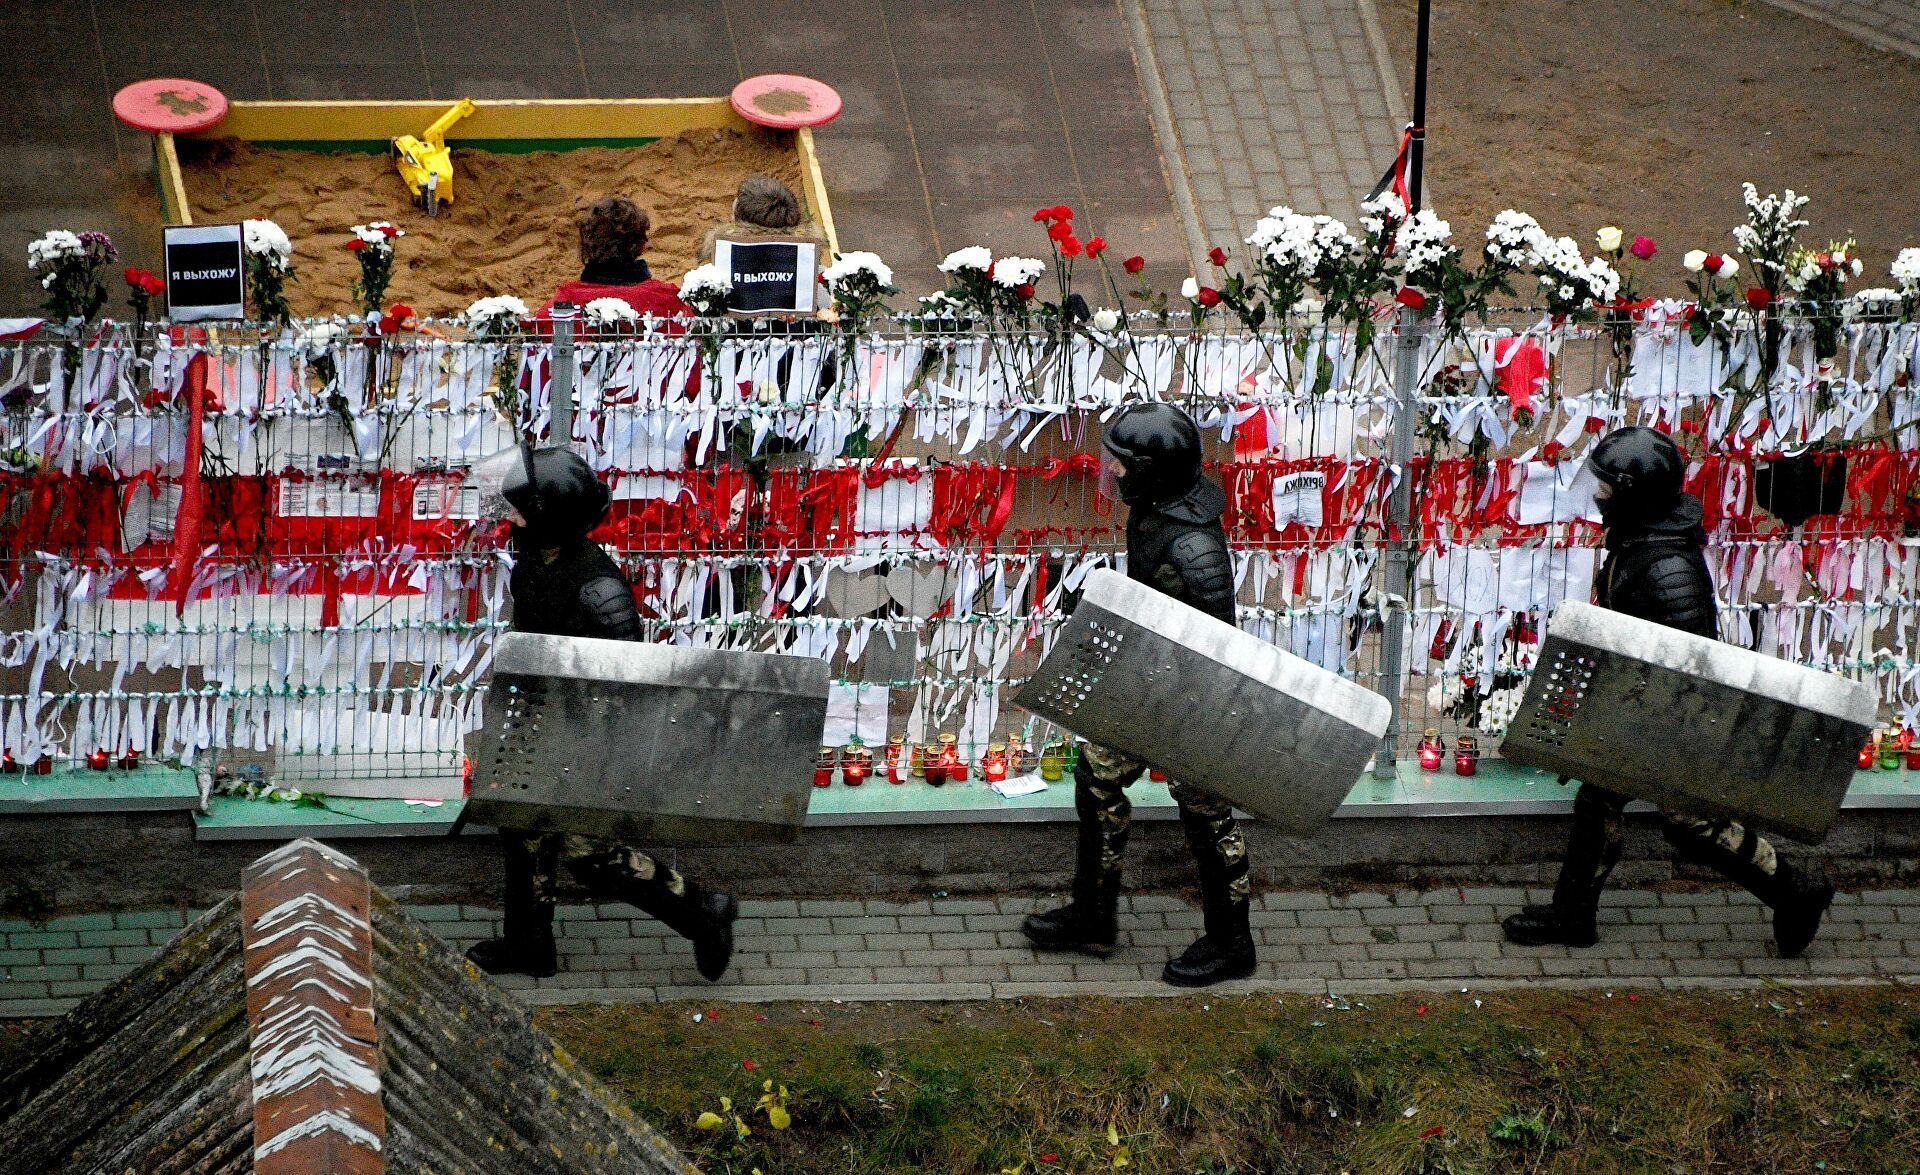
<svg viewBox="0 0 1920 1175">
<path fill-rule="evenodd" d="M 467 818 L 611 841 L 793 841 L 826 720 L 814 657 L 509 632 Z"/>
</svg>

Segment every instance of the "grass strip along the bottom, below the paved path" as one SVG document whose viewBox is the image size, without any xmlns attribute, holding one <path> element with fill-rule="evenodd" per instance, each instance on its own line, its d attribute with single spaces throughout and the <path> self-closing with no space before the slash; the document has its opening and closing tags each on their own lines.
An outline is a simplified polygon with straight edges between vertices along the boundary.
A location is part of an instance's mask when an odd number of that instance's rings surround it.
<svg viewBox="0 0 1920 1175">
<path fill-rule="evenodd" d="M 1893 987 L 705 1012 L 538 1019 L 712 1175 L 1920 1175 L 1920 996 Z M 695 1129 L 722 1096 L 747 1137 Z"/>
</svg>

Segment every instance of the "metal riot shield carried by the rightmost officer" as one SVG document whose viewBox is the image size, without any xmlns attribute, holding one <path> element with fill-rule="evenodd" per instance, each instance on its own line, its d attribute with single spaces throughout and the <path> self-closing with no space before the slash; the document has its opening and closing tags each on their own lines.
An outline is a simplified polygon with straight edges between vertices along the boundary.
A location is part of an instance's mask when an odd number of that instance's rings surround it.
<svg viewBox="0 0 1920 1175">
<path fill-rule="evenodd" d="M 1661 808 L 1820 841 L 1874 714 L 1860 682 L 1565 601 L 1500 753 Z"/>
</svg>

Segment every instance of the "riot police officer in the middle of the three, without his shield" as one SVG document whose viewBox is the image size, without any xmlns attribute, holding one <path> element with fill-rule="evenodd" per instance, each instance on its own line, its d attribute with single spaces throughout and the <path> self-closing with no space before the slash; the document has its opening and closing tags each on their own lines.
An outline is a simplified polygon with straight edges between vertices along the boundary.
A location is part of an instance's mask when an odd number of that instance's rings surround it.
<svg viewBox="0 0 1920 1175">
<path fill-rule="evenodd" d="M 1233 624 L 1233 559 L 1219 522 L 1227 495 L 1200 472 L 1200 428 L 1173 405 L 1140 403 L 1114 419 L 1102 447 L 1102 493 L 1127 503 L 1127 574 Z M 1073 900 L 1027 918 L 1021 929 L 1035 947 L 1096 956 L 1114 950 L 1121 856 L 1133 824 L 1127 785 L 1142 770 L 1117 751 L 1081 749 L 1073 770 Z M 1183 783 L 1169 791 L 1200 866 L 1206 933 L 1162 975 L 1179 987 L 1252 975 L 1246 841 L 1233 804 Z"/>
</svg>

